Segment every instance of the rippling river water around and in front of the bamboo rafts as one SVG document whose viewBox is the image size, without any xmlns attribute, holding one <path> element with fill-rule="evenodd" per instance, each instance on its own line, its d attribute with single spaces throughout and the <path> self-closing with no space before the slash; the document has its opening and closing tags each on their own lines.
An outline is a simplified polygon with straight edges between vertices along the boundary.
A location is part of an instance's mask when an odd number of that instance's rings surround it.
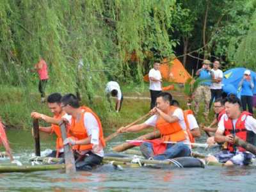
<svg viewBox="0 0 256 192">
<path fill-rule="evenodd" d="M 34 152 L 29 131 L 8 130 L 13 154 L 20 161 Z M 111 141 L 110 148 L 134 134 L 122 135 Z M 41 150 L 54 148 L 54 138 L 41 134 Z M 201 139 L 204 142 L 205 138 Z M 205 149 L 196 149 L 209 153 Z M 6 160 L 0 160 L 7 162 Z M 256 169 L 253 166 L 225 168 L 124 168 L 115 170 L 111 165 L 94 172 L 77 172 L 67 175 L 63 170 L 32 173 L 1 173 L 0 191 L 254 191 Z"/>
</svg>

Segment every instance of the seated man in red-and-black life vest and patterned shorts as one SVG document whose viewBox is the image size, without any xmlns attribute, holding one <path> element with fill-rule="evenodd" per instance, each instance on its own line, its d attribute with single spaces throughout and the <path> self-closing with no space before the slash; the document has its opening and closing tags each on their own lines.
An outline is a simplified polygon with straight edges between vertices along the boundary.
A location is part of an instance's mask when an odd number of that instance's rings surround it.
<svg viewBox="0 0 256 192">
<path fill-rule="evenodd" d="M 256 119 L 247 111 L 241 112 L 241 101 L 234 95 L 225 99 L 226 113 L 221 116 L 214 140 L 227 142 L 227 149 L 207 157 L 207 161 L 225 163 L 225 165 L 247 165 L 254 157 L 244 148 L 234 145 L 234 136 L 255 145 Z"/>
</svg>

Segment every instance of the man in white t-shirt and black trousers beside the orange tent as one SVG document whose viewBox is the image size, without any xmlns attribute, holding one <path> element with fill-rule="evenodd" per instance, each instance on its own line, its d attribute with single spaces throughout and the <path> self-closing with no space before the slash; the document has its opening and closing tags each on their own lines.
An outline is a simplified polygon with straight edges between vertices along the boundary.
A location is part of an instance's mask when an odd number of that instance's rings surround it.
<svg viewBox="0 0 256 192">
<path fill-rule="evenodd" d="M 154 63 L 154 68 L 148 72 L 149 77 L 149 90 L 150 90 L 150 109 L 156 106 L 156 97 L 162 92 L 162 76 L 159 70 L 160 63 Z"/>
</svg>

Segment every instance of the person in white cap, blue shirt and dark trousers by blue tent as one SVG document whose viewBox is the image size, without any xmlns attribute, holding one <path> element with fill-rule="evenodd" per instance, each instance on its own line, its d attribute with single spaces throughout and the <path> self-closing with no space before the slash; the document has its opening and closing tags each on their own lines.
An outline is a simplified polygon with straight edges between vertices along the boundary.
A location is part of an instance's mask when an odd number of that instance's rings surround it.
<svg viewBox="0 0 256 192">
<path fill-rule="evenodd" d="M 243 79 L 238 84 L 241 88 L 241 103 L 243 111 L 246 111 L 246 106 L 248 106 L 248 111 L 253 114 L 253 79 L 251 77 L 250 70 L 244 71 Z"/>
</svg>

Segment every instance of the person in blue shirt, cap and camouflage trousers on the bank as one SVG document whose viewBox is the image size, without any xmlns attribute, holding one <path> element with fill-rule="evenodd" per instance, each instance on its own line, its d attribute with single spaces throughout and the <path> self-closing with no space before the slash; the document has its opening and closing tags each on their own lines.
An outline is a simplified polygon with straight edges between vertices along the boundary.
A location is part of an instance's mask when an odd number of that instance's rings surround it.
<svg viewBox="0 0 256 192">
<path fill-rule="evenodd" d="M 196 88 L 194 96 L 195 96 L 195 113 L 198 114 L 199 111 L 199 104 L 204 104 L 204 116 L 205 118 L 209 115 L 209 105 L 211 100 L 211 89 L 210 86 L 212 84 L 212 72 L 211 72 L 211 61 L 204 60 L 202 63 L 202 68 L 200 68 L 196 72 L 196 76 L 202 82 Z"/>
</svg>

